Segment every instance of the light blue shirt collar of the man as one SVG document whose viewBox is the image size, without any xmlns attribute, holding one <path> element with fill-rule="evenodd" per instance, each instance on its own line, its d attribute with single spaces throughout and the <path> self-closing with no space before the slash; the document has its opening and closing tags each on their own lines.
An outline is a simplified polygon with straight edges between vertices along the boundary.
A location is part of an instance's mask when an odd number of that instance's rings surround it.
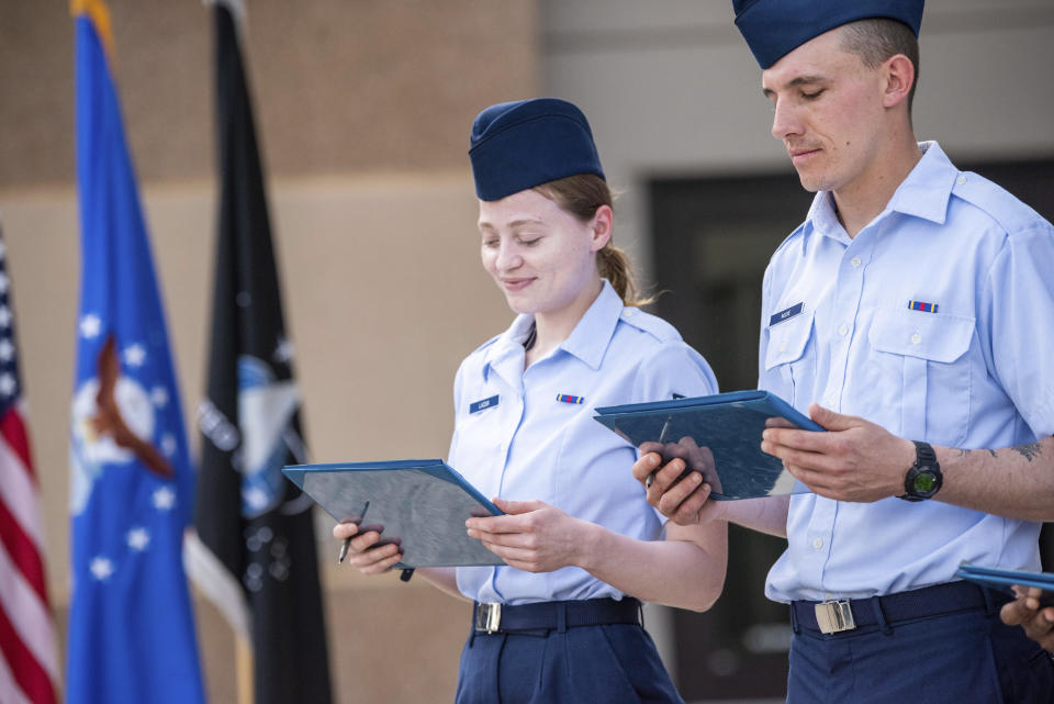
<svg viewBox="0 0 1054 704">
<path fill-rule="evenodd" d="M 920 142 L 922 158 L 907 178 L 897 187 L 885 210 L 875 220 L 887 213 L 898 212 L 942 224 L 948 213 L 948 201 L 958 171 L 937 142 Z M 806 234 L 816 232 L 843 244 L 851 238 L 838 220 L 834 201 L 829 191 L 820 191 L 812 199 L 806 217 Z"/>
</svg>

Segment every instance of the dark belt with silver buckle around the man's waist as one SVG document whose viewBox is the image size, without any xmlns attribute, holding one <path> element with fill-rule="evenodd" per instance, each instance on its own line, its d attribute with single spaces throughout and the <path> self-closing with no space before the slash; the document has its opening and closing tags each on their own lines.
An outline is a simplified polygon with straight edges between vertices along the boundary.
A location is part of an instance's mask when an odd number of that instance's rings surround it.
<svg viewBox="0 0 1054 704">
<path fill-rule="evenodd" d="M 796 601 L 790 604 L 790 621 L 796 628 L 831 634 L 963 611 L 995 610 L 1008 601 L 1009 595 L 969 582 L 948 582 L 868 599 Z"/>
</svg>

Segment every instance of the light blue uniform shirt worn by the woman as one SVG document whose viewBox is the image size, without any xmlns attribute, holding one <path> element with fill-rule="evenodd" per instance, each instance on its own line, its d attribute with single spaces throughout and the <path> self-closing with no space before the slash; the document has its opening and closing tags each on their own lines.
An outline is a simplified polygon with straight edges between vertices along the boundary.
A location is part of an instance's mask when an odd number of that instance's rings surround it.
<svg viewBox="0 0 1054 704">
<path fill-rule="evenodd" d="M 593 409 L 716 393 L 714 372 L 673 326 L 624 306 L 607 281 L 571 335 L 525 371 L 532 322 L 519 315 L 461 362 L 451 467 L 484 496 L 538 499 L 616 533 L 659 539 L 663 519 L 630 471 L 636 449 L 594 421 Z M 576 567 L 538 574 L 469 567 L 457 574 L 461 593 L 479 602 L 623 596 Z"/>
</svg>

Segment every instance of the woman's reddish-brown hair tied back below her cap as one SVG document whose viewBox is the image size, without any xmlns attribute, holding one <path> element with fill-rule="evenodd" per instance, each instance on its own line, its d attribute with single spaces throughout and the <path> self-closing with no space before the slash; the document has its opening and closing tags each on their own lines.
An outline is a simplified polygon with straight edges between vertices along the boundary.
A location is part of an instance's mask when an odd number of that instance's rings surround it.
<svg viewBox="0 0 1054 704">
<path fill-rule="evenodd" d="M 578 174 L 541 183 L 534 188 L 582 222 L 590 222 L 601 205 L 613 206 L 614 198 L 607 181 L 593 174 Z M 625 252 L 610 241 L 597 254 L 596 267 L 602 277 L 612 282 L 612 288 L 626 305 L 647 305 L 650 298 L 641 298 L 633 275 L 633 264 Z"/>
</svg>

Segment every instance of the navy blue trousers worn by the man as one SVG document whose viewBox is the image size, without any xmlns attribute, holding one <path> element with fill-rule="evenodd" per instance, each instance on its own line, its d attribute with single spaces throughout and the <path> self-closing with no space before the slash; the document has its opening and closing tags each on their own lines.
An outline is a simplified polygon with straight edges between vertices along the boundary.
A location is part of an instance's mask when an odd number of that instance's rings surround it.
<svg viewBox="0 0 1054 704">
<path fill-rule="evenodd" d="M 1054 661 L 996 608 L 823 635 L 796 628 L 788 704 L 1051 704 Z"/>
</svg>

